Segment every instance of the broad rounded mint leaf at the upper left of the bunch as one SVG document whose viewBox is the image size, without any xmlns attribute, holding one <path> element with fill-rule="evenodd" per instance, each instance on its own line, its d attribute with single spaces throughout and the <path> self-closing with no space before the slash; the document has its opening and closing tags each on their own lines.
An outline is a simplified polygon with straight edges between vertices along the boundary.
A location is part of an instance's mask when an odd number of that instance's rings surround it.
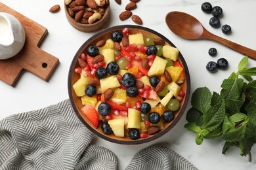
<svg viewBox="0 0 256 170">
<path fill-rule="evenodd" d="M 210 108 L 211 92 L 208 88 L 198 88 L 192 94 L 191 105 L 203 114 Z"/>
</svg>

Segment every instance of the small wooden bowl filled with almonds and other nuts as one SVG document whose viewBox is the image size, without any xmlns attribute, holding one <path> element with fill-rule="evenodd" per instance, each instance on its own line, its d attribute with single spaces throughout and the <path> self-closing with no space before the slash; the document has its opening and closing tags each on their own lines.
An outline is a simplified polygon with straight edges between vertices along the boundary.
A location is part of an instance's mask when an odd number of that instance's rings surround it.
<svg viewBox="0 0 256 170">
<path fill-rule="evenodd" d="M 64 7 L 68 22 L 83 32 L 100 29 L 110 16 L 109 0 L 65 0 Z"/>
</svg>

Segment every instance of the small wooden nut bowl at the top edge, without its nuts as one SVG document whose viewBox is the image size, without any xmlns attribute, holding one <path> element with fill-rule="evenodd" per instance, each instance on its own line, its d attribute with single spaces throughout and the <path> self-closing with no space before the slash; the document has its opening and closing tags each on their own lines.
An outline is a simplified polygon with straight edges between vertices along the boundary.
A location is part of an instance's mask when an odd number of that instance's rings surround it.
<svg viewBox="0 0 256 170">
<path fill-rule="evenodd" d="M 72 18 L 72 16 L 70 16 L 68 12 L 68 5 L 66 5 L 65 3 L 64 3 L 64 8 L 65 8 L 65 14 L 68 22 L 75 29 L 83 32 L 93 32 L 100 29 L 100 27 L 106 24 L 108 22 L 108 19 L 110 18 L 110 4 L 106 6 L 105 13 L 102 16 L 102 18 L 93 24 L 81 24 L 79 22 L 75 22 L 74 18 Z"/>
</svg>

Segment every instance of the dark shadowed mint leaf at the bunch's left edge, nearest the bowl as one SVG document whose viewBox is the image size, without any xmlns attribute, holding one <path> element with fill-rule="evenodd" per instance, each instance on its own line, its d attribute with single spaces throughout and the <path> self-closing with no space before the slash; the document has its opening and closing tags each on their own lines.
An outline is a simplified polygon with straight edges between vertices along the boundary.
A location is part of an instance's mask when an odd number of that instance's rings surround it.
<svg viewBox="0 0 256 170">
<path fill-rule="evenodd" d="M 202 112 L 192 107 L 186 113 L 186 120 L 188 122 L 195 122 L 198 126 L 202 126 L 202 123 L 203 123 Z"/>
</svg>

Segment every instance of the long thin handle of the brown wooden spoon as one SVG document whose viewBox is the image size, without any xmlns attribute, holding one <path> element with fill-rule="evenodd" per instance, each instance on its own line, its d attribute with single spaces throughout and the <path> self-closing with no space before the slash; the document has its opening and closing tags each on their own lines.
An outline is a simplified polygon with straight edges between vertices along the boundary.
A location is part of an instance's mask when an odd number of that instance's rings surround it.
<svg viewBox="0 0 256 170">
<path fill-rule="evenodd" d="M 236 42 L 232 42 L 227 39 L 218 37 L 217 35 L 214 35 L 213 33 L 210 33 L 208 31 L 203 32 L 202 38 L 220 42 L 221 44 L 224 44 L 225 46 L 228 46 L 229 48 L 236 50 L 237 52 L 240 52 L 241 54 L 244 54 L 244 55 L 248 56 L 249 58 L 256 59 L 256 51 L 255 50 L 252 50 L 250 48 L 247 48 L 245 46 L 237 44 Z"/>
</svg>

